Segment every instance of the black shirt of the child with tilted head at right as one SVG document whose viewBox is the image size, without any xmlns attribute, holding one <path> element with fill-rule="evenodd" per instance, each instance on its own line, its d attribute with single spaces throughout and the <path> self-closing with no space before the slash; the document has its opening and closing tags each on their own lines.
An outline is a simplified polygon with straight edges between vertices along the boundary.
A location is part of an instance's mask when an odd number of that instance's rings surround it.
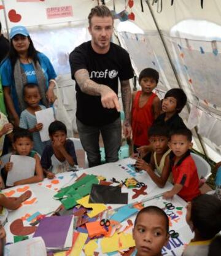
<svg viewBox="0 0 221 256">
<path fill-rule="evenodd" d="M 168 126 L 169 131 L 176 131 L 182 128 L 187 128 L 187 126 L 185 126 L 184 121 L 178 114 L 173 115 L 171 118 L 166 120 L 166 122 L 165 116 L 165 113 L 159 115 L 157 119 L 153 122 L 153 125 L 166 125 Z"/>
</svg>

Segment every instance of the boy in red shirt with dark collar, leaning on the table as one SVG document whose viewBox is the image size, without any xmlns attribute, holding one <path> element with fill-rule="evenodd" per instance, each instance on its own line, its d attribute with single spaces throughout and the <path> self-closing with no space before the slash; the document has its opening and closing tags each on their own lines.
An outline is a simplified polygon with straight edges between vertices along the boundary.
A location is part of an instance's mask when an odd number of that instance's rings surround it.
<svg viewBox="0 0 221 256">
<path fill-rule="evenodd" d="M 199 177 L 195 161 L 190 155 L 192 148 L 192 132 L 187 128 L 173 131 L 169 146 L 171 147 L 171 166 L 174 187 L 163 194 L 163 198 L 179 195 L 185 201 L 192 201 L 200 195 Z"/>
</svg>

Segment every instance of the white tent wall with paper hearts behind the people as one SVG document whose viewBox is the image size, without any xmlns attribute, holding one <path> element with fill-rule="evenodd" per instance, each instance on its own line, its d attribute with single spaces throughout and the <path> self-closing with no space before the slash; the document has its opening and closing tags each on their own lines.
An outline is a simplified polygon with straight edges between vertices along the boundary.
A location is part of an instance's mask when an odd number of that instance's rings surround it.
<svg viewBox="0 0 221 256">
<path fill-rule="evenodd" d="M 68 55 L 90 39 L 87 16 L 98 2 L 112 10 L 113 41 L 130 53 L 134 74 L 138 76 L 147 67 L 157 69 L 160 98 L 173 87 L 187 93 L 188 104 L 181 115 L 195 135 L 195 148 L 220 161 L 219 0 L 0 0 L 0 21 L 6 34 L 12 26 L 27 26 L 37 50 L 50 58 L 76 129 L 75 88 Z"/>
</svg>

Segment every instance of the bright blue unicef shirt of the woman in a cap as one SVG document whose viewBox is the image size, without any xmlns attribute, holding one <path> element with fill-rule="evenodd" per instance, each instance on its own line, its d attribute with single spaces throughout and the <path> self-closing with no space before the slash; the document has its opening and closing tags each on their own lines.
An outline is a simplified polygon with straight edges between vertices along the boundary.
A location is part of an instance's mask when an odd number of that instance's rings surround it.
<svg viewBox="0 0 221 256">
<path fill-rule="evenodd" d="M 45 79 L 46 79 L 46 88 L 48 88 L 49 80 L 50 79 L 55 79 L 56 78 L 56 73 L 55 69 L 52 66 L 52 63 L 50 63 L 50 60 L 47 58 L 47 56 L 44 55 L 44 53 L 37 53 L 37 58 L 39 59 L 39 63 L 41 65 L 42 71 L 44 72 Z M 21 64 L 22 65 L 22 64 Z M 26 71 L 30 72 L 33 71 L 33 65 L 32 64 L 25 64 Z M 2 87 L 10 87 L 11 89 L 11 95 L 12 95 L 12 101 L 14 103 L 14 107 L 18 115 L 21 114 L 19 105 L 18 105 L 18 98 L 17 98 L 17 93 L 15 90 L 15 80 L 14 80 L 14 73 L 12 70 L 12 64 L 10 63 L 9 58 L 4 60 L 1 63 L 0 66 L 0 75 L 2 79 Z M 32 77 L 27 77 L 27 79 L 34 79 L 35 77 L 35 83 L 37 83 L 36 76 L 33 74 Z M 28 80 L 29 82 L 29 80 Z"/>
</svg>

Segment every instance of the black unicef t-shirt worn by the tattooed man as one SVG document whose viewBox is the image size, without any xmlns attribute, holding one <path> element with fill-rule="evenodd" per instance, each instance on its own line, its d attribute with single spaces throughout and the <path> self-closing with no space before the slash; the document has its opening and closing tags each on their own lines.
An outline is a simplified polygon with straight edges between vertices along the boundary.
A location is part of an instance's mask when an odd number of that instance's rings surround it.
<svg viewBox="0 0 221 256">
<path fill-rule="evenodd" d="M 87 69 L 90 79 L 96 83 L 107 85 L 118 93 L 118 78 L 128 80 L 133 77 L 130 56 L 122 47 L 111 42 L 105 54 L 96 53 L 91 41 L 84 42 L 71 52 L 69 56 L 71 75 L 79 69 Z M 76 83 L 77 112 L 76 117 L 85 125 L 107 125 L 114 122 L 119 113 L 116 109 L 106 109 L 101 104 L 101 96 L 82 93 Z"/>
</svg>

